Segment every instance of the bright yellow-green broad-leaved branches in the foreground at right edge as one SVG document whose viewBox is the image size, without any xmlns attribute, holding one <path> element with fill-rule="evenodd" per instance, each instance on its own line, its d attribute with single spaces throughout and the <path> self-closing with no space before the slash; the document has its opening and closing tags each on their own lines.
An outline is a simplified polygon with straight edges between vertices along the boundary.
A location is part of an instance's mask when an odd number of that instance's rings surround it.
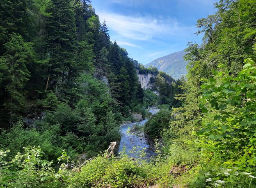
<svg viewBox="0 0 256 188">
<path fill-rule="evenodd" d="M 202 85 L 204 105 L 201 107 L 213 114 L 213 118 L 203 125 L 199 134 L 202 134 L 202 139 L 209 138 L 209 145 L 215 146 L 213 158 L 224 160 L 228 167 L 254 172 L 256 67 L 250 59 L 245 63 L 237 76 L 219 72 Z"/>
</svg>

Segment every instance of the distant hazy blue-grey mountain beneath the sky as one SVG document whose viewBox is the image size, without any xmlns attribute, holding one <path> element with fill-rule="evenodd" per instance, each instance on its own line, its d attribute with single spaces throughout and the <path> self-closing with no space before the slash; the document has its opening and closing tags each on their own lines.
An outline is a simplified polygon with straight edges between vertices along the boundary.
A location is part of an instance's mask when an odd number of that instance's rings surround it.
<svg viewBox="0 0 256 188">
<path fill-rule="evenodd" d="M 157 58 L 145 66 L 156 67 L 158 70 L 171 75 L 172 78 L 178 79 L 187 74 L 187 62 L 183 59 L 185 54 L 186 52 L 184 50 L 178 51 L 167 56 Z"/>
</svg>

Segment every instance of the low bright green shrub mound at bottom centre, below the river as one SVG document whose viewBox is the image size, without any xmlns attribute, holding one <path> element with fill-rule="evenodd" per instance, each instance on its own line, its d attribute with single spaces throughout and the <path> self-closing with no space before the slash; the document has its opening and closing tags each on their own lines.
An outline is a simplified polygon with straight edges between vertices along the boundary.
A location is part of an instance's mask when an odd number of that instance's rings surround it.
<svg viewBox="0 0 256 188">
<path fill-rule="evenodd" d="M 150 178 L 147 169 L 128 157 L 106 159 L 98 156 L 69 181 L 74 187 L 138 187 L 149 184 Z"/>
</svg>

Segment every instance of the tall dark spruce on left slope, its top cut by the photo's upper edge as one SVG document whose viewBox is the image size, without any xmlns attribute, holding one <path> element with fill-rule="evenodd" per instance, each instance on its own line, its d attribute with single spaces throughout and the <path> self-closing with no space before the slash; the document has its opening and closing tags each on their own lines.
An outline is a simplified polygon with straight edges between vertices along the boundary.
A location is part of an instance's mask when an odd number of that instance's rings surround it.
<svg viewBox="0 0 256 188">
<path fill-rule="evenodd" d="M 73 63 L 73 56 L 76 51 L 76 27 L 75 15 L 71 7 L 71 0 L 52 0 L 52 12 L 48 19 L 47 51 L 50 54 L 48 74 L 53 81 L 68 81 L 69 72 Z"/>
</svg>

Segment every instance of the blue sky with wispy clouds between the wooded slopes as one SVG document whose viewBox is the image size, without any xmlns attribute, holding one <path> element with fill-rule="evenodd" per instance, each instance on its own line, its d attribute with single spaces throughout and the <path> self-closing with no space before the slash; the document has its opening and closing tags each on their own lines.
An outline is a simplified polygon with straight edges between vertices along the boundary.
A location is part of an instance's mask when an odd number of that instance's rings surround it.
<svg viewBox="0 0 256 188">
<path fill-rule="evenodd" d="M 197 19 L 214 13 L 217 0 L 91 0 L 100 21 L 105 19 L 110 39 L 128 51 L 130 58 L 147 64 L 201 43 Z"/>
</svg>

